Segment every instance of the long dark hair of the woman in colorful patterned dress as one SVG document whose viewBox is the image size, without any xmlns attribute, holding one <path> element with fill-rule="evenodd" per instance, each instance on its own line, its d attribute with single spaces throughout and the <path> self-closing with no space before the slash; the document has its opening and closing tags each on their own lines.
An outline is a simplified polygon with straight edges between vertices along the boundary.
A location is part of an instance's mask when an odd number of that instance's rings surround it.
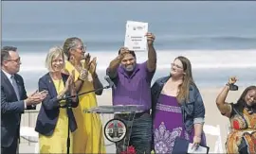
<svg viewBox="0 0 256 154">
<path fill-rule="evenodd" d="M 244 108 L 246 107 L 246 100 L 245 97 L 247 95 L 247 93 L 250 90 L 255 90 L 256 91 L 256 86 L 249 86 L 247 87 L 247 89 L 243 92 L 243 94 L 241 94 L 241 96 L 239 97 L 238 101 L 236 104 L 234 104 L 234 108 L 236 108 L 238 111 L 243 112 Z M 253 110 L 256 110 L 256 106 L 253 107 Z"/>
</svg>

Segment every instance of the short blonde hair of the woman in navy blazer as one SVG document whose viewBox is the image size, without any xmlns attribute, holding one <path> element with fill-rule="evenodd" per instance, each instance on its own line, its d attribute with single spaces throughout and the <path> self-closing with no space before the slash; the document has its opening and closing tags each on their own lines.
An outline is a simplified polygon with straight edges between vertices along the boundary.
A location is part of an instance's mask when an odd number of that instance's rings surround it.
<svg viewBox="0 0 256 154">
<path fill-rule="evenodd" d="M 54 72 L 52 69 L 52 60 L 54 58 L 58 58 L 59 56 L 62 56 L 64 60 L 64 52 L 63 48 L 60 46 L 54 46 L 49 49 L 49 52 L 46 56 L 46 68 L 49 72 Z"/>
</svg>

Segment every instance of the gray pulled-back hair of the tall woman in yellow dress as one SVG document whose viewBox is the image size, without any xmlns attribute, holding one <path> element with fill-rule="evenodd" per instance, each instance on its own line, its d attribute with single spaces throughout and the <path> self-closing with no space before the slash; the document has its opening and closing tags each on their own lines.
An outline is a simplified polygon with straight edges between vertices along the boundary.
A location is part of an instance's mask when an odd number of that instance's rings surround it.
<svg viewBox="0 0 256 154">
<path fill-rule="evenodd" d="M 66 57 L 66 60 L 69 60 L 70 58 L 70 49 L 74 49 L 79 46 L 79 43 L 82 43 L 82 40 L 77 37 L 67 38 L 64 41 L 64 55 Z"/>
</svg>

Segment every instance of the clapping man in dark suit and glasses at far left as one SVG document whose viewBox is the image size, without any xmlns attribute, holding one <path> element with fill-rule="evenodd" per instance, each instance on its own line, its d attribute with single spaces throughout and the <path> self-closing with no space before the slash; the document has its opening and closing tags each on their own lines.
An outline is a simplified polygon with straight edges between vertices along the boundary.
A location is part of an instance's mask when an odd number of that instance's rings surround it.
<svg viewBox="0 0 256 154">
<path fill-rule="evenodd" d="M 35 110 L 47 92 L 35 92 L 27 96 L 20 70 L 17 48 L 4 46 L 1 49 L 1 153 L 18 153 L 21 113 Z"/>
</svg>

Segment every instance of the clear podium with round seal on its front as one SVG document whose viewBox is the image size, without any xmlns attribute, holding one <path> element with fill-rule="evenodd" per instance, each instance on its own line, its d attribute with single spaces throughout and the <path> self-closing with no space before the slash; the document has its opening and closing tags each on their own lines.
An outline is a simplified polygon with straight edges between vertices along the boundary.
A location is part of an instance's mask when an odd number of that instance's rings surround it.
<svg viewBox="0 0 256 154">
<path fill-rule="evenodd" d="M 123 143 L 122 151 L 125 151 L 129 146 L 135 115 L 136 113 L 143 112 L 141 110 L 141 107 L 143 106 L 140 106 L 140 105 L 98 106 L 98 107 L 93 107 L 87 110 L 83 110 L 83 112 L 100 114 L 104 137 L 110 142 L 110 144 L 105 144 L 106 147 L 109 145 L 115 145 L 116 143 Z M 127 115 L 127 119 L 123 121 L 117 115 Z M 127 122 L 129 122 L 129 124 L 127 124 Z M 116 153 L 116 148 L 115 148 L 115 151 L 113 151 L 113 149 L 111 149 L 111 151 L 107 151 L 107 153 L 114 153 L 114 152 Z"/>
</svg>

